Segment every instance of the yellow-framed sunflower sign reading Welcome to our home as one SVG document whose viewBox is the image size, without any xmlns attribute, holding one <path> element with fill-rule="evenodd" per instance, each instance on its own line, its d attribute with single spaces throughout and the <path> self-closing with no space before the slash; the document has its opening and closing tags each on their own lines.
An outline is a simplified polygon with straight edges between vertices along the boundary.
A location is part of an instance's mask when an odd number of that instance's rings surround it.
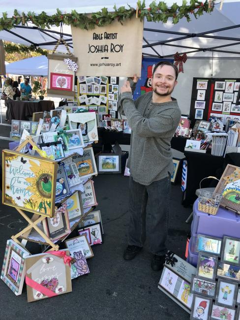
<svg viewBox="0 0 240 320">
<path fill-rule="evenodd" d="M 58 163 L 54 160 L 2 151 L 2 203 L 53 217 Z"/>
</svg>

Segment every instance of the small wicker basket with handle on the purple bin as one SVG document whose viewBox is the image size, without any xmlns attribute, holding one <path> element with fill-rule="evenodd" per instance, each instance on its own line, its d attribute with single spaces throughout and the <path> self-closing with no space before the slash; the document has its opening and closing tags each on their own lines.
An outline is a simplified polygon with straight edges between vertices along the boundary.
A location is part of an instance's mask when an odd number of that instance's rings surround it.
<svg viewBox="0 0 240 320">
<path fill-rule="evenodd" d="M 205 179 L 218 180 L 216 177 L 209 176 L 200 181 L 200 196 L 198 198 L 198 210 L 215 216 L 220 206 L 222 194 L 210 192 L 204 189 L 201 190 L 201 182 Z"/>
</svg>

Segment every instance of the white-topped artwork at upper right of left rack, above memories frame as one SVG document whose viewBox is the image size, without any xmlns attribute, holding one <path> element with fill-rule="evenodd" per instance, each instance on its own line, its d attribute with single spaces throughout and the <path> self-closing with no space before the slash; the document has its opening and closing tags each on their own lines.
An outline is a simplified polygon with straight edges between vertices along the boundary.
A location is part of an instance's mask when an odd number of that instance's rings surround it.
<svg viewBox="0 0 240 320">
<path fill-rule="evenodd" d="M 98 141 L 95 112 L 68 113 L 71 129 L 81 129 L 84 142 Z"/>
</svg>

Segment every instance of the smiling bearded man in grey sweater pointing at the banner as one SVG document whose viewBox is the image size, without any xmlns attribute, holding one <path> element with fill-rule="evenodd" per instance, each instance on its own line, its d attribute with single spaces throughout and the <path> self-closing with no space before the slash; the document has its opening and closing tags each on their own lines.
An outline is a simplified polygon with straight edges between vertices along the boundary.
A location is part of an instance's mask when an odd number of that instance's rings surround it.
<svg viewBox="0 0 240 320">
<path fill-rule="evenodd" d="M 152 72 L 152 92 L 132 98 L 137 76 L 121 88 L 119 112 L 125 115 L 131 131 L 127 166 L 129 177 L 130 224 L 124 259 L 133 259 L 146 240 L 146 207 L 150 212 L 151 268 L 161 270 L 167 253 L 169 198 L 173 161 L 170 141 L 180 122 L 181 111 L 171 97 L 178 69 L 160 62 Z"/>
</svg>

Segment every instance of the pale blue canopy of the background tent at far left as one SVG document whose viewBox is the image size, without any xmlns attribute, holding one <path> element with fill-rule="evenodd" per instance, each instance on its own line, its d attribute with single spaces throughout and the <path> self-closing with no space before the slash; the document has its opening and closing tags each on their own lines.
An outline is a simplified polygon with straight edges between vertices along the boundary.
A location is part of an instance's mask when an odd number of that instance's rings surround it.
<svg viewBox="0 0 240 320">
<path fill-rule="evenodd" d="M 31 76 L 47 76 L 48 58 L 46 56 L 38 56 L 7 64 L 6 73 Z"/>
</svg>

